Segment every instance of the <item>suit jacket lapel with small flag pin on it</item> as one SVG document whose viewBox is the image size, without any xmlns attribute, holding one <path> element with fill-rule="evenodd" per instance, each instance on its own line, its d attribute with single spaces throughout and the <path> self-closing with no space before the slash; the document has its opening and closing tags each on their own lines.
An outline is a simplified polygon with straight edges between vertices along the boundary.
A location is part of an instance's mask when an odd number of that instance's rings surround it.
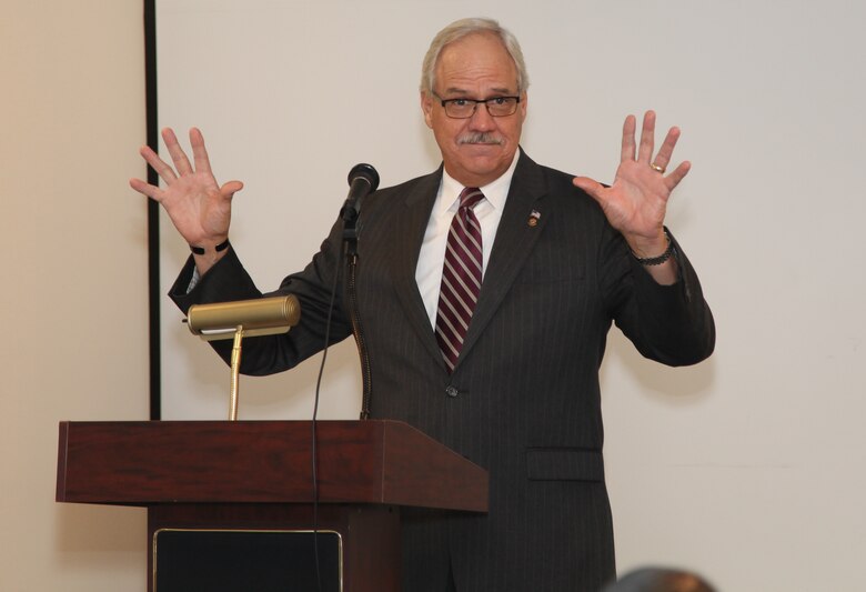
<svg viewBox="0 0 866 592">
<path fill-rule="evenodd" d="M 545 193 L 546 183 L 541 167 L 521 149 L 520 160 L 508 189 L 508 198 L 505 200 L 505 209 L 493 242 L 490 263 L 484 272 L 479 302 L 472 314 L 466 338 L 463 340 L 457 367 L 493 318 L 541 235 L 550 218 L 545 215 L 545 201 L 542 199 Z"/>
</svg>

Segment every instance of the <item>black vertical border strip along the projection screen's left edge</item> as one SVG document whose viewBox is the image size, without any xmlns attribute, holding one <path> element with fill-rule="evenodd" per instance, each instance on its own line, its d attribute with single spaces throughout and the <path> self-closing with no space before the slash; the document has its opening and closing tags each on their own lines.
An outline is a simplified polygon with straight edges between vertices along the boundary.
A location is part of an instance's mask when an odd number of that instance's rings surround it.
<svg viewBox="0 0 866 592">
<path fill-rule="evenodd" d="M 159 149 L 157 121 L 157 0 L 144 0 L 144 94 L 148 146 Z M 148 182 L 158 184 L 148 167 Z M 148 200 L 148 302 L 150 318 L 150 419 L 162 417 L 162 350 L 160 348 L 160 219 L 159 204 Z"/>
</svg>

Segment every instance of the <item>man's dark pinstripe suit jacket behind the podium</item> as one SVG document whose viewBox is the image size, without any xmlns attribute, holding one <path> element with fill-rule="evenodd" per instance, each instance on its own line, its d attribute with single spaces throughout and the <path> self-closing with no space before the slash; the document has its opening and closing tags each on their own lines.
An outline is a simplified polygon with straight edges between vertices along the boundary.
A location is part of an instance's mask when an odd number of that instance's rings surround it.
<svg viewBox="0 0 866 592">
<path fill-rule="evenodd" d="M 712 314 L 678 248 L 682 281 L 657 285 L 571 175 L 522 153 L 449 375 L 414 279 L 441 175 L 383 189 L 363 205 L 358 293 L 372 415 L 406 421 L 489 469 L 490 513 L 406 512 L 404 590 L 442 592 L 451 565 L 461 592 L 596 591 L 614 575 L 598 390 L 607 331 L 615 322 L 647 358 L 691 364 L 713 350 Z M 286 337 L 248 340 L 243 372 L 285 370 L 321 350 L 340 252 L 335 225 L 280 288 L 301 300 L 301 323 Z M 260 293 L 234 251 L 184 294 L 191 269 L 172 289 L 184 310 Z M 338 302 L 333 341 L 351 334 L 342 293 Z"/>
</svg>

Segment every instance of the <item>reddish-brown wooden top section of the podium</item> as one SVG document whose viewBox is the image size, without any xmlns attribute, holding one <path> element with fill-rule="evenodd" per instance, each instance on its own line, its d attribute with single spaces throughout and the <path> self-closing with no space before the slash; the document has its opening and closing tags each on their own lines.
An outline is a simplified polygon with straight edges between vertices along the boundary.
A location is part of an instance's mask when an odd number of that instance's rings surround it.
<svg viewBox="0 0 866 592">
<path fill-rule="evenodd" d="M 61 422 L 57 501 L 312 503 L 310 421 Z M 487 511 L 487 472 L 406 423 L 315 422 L 319 501 Z"/>
</svg>

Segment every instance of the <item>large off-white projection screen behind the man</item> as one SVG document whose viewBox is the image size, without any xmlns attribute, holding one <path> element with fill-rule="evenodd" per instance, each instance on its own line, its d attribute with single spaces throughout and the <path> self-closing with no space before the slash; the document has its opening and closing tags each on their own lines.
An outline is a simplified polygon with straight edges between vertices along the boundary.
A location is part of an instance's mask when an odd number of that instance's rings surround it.
<svg viewBox="0 0 866 592">
<path fill-rule="evenodd" d="M 159 0 L 159 124 L 199 127 L 218 180 L 244 182 L 231 240 L 260 288 L 309 262 L 352 165 L 373 164 L 383 187 L 439 165 L 421 59 L 467 16 L 521 40 L 522 144 L 537 162 L 610 182 L 624 117 L 651 108 L 682 128 L 676 157 L 693 162 L 667 223 L 702 278 L 717 351 L 668 369 L 611 333 L 620 570 L 849 589 L 866 554 L 863 4 Z M 161 234 L 164 294 L 189 249 L 164 215 Z M 162 304 L 162 418 L 223 419 L 229 369 Z M 351 340 L 329 353 L 320 418 L 358 417 L 356 358 Z M 241 419 L 309 419 L 320 362 L 242 378 Z"/>
</svg>

